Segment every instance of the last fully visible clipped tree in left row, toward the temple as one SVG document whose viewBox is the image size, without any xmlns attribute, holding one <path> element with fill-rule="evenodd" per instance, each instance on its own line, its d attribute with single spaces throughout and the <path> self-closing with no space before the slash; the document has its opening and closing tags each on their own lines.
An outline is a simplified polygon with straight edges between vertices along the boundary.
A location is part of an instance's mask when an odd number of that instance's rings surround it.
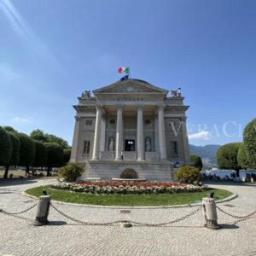
<svg viewBox="0 0 256 256">
<path fill-rule="evenodd" d="M 44 143 L 47 149 L 47 176 L 52 167 L 63 166 L 63 148 L 57 143 Z"/>
</svg>

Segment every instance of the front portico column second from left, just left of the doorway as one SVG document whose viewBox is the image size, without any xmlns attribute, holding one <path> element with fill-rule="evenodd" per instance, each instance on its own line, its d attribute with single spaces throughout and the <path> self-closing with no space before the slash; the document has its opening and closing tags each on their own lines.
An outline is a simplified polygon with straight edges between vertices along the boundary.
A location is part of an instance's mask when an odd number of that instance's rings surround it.
<svg viewBox="0 0 256 256">
<path fill-rule="evenodd" d="M 116 121 L 116 139 L 115 139 L 115 160 L 122 160 L 121 152 L 123 150 L 123 108 L 117 108 Z"/>
</svg>

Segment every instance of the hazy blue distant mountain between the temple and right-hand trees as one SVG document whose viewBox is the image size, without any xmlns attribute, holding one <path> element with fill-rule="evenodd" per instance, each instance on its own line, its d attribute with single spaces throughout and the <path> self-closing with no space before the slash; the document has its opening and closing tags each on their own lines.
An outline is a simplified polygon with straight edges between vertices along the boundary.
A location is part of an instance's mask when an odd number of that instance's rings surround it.
<svg viewBox="0 0 256 256">
<path fill-rule="evenodd" d="M 190 154 L 197 154 L 201 157 L 204 164 L 209 166 L 216 165 L 215 154 L 220 145 L 195 146 L 189 145 Z"/>
</svg>

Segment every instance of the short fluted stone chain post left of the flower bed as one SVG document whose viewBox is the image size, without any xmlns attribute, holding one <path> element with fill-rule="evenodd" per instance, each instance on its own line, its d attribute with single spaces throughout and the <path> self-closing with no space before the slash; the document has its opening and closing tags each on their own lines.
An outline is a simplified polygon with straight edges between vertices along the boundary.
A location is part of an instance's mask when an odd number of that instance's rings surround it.
<svg viewBox="0 0 256 256">
<path fill-rule="evenodd" d="M 49 204 L 50 204 L 49 195 L 39 196 L 37 216 L 33 225 L 42 226 L 49 223 L 47 219 L 49 214 Z"/>
</svg>

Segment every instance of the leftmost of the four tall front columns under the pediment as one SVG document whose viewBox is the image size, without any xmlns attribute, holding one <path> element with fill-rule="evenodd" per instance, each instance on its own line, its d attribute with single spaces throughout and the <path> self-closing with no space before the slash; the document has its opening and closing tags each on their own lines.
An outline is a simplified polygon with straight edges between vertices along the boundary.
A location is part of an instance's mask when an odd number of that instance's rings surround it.
<svg viewBox="0 0 256 256">
<path fill-rule="evenodd" d="M 94 144 L 91 160 L 99 160 L 100 140 L 101 140 L 102 107 L 96 107 L 96 124 L 94 133 Z"/>
</svg>

